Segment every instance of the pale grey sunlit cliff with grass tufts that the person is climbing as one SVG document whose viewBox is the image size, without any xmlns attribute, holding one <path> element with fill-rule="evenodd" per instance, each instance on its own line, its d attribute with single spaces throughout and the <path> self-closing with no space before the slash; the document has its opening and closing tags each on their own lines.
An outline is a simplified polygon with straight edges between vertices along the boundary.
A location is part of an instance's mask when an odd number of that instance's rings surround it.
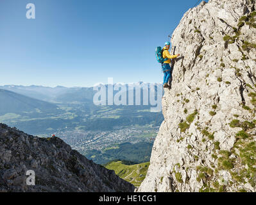
<svg viewBox="0 0 256 205">
<path fill-rule="evenodd" d="M 255 19 L 254 0 L 185 13 L 171 40 L 183 58 L 139 192 L 256 191 Z"/>
</svg>

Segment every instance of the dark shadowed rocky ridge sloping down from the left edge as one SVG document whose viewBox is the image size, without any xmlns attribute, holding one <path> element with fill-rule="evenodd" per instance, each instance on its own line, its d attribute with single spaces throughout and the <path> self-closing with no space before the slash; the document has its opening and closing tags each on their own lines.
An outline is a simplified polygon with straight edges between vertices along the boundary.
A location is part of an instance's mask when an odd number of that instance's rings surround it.
<svg viewBox="0 0 256 205">
<path fill-rule="evenodd" d="M 35 172 L 34 186 L 28 185 L 32 182 L 28 170 Z M 0 192 L 133 192 L 134 188 L 60 138 L 38 138 L 0 124 Z"/>
</svg>

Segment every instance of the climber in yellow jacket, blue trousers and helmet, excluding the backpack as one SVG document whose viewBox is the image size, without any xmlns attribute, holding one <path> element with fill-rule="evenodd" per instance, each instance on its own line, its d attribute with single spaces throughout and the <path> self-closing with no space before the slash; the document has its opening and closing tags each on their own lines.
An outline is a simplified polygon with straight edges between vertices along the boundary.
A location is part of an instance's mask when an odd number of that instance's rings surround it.
<svg viewBox="0 0 256 205">
<path fill-rule="evenodd" d="M 168 58 L 168 60 L 162 63 L 162 71 L 164 72 L 164 88 L 167 88 L 169 79 L 171 78 L 171 69 L 173 69 L 170 67 L 171 59 L 177 58 L 178 56 L 180 56 L 180 54 L 171 55 L 169 53 L 171 45 L 170 42 L 166 42 L 164 45 L 165 46 L 162 49 L 162 58 Z"/>
</svg>

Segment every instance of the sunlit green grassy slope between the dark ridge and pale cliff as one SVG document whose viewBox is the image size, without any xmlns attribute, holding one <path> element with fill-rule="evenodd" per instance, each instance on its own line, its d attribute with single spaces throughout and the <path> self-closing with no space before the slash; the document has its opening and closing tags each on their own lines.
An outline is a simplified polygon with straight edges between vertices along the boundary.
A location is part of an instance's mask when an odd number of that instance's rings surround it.
<svg viewBox="0 0 256 205">
<path fill-rule="evenodd" d="M 139 187 L 146 177 L 149 162 L 136 165 L 124 165 L 122 161 L 113 161 L 108 163 L 105 167 L 114 170 L 115 174 L 119 177 Z"/>
</svg>

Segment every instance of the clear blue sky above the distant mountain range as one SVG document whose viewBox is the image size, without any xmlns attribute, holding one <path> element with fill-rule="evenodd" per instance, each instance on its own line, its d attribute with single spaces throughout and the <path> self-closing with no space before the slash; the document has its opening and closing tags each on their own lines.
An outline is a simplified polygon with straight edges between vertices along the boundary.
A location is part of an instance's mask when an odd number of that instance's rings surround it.
<svg viewBox="0 0 256 205">
<path fill-rule="evenodd" d="M 26 19 L 26 4 L 36 19 Z M 162 82 L 163 46 L 192 0 L 1 0 L 0 85 Z"/>
</svg>

